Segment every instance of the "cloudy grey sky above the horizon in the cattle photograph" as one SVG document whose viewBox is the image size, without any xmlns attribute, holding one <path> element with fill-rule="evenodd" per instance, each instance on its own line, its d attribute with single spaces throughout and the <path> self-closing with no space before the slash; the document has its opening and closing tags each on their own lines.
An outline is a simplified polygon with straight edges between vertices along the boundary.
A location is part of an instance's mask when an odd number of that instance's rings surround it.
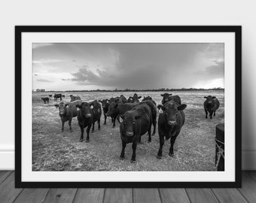
<svg viewBox="0 0 256 203">
<path fill-rule="evenodd" d="M 224 44 L 34 43 L 32 89 L 224 87 Z"/>
</svg>

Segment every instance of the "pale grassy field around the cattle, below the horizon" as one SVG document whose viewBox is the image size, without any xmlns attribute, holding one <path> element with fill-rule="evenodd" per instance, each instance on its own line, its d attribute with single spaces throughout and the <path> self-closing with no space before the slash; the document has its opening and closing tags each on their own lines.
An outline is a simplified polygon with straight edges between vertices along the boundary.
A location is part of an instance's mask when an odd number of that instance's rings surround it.
<svg viewBox="0 0 256 203">
<path fill-rule="evenodd" d="M 111 119 L 101 130 L 90 133 L 90 142 L 79 142 L 81 135 L 78 120 L 73 118 L 73 132 L 65 123 L 61 132 L 59 110 L 56 102 L 50 100 L 44 105 L 41 97 L 52 92 L 33 92 L 32 95 L 32 171 L 215 171 L 215 126 L 224 122 L 224 91 L 181 91 L 181 102 L 187 104 L 185 124 L 174 145 L 174 157 L 169 157 L 170 143 L 163 146 L 163 158 L 157 159 L 159 148 L 158 132 L 148 143 L 148 136 L 142 136 L 142 144 L 136 150 L 136 163 L 130 163 L 132 144 L 126 146 L 126 156 L 120 160 L 121 140 L 119 123 L 113 129 Z M 69 95 L 79 95 L 84 101 L 111 98 L 134 92 L 62 92 L 64 102 Z M 151 95 L 160 104 L 162 92 L 136 92 L 138 95 Z M 205 118 L 204 96 L 215 95 L 221 103 L 212 120 Z M 59 103 L 59 102 L 57 102 Z M 157 112 L 158 120 L 158 112 Z M 153 128 L 153 126 L 152 126 Z M 85 134 L 86 135 L 86 134 Z"/>
</svg>

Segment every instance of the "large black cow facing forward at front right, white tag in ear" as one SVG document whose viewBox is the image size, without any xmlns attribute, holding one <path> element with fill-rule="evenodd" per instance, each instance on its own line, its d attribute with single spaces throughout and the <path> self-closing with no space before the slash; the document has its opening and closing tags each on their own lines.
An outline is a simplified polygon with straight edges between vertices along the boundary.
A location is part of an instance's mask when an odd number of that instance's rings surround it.
<svg viewBox="0 0 256 203">
<path fill-rule="evenodd" d="M 158 117 L 158 134 L 160 147 L 157 153 L 157 159 L 162 158 L 162 150 L 164 144 L 164 138 L 170 139 L 171 146 L 169 148 L 169 156 L 173 156 L 173 145 L 178 134 L 181 132 L 181 128 L 184 125 L 185 114 L 184 109 L 187 105 L 179 105 L 177 102 L 170 101 L 164 105 L 158 105 L 157 108 L 160 110 Z"/>
</svg>

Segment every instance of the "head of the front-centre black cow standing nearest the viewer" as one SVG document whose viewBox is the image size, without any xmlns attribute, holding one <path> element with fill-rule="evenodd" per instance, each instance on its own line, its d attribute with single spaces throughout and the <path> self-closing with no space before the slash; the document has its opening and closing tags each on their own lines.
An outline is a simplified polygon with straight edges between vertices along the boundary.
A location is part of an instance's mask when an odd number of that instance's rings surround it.
<svg viewBox="0 0 256 203">
<path fill-rule="evenodd" d="M 120 123 L 122 123 L 121 125 L 123 125 L 123 130 L 127 137 L 135 135 L 136 123 L 139 118 L 139 115 L 134 115 L 130 111 L 120 116 Z"/>
</svg>

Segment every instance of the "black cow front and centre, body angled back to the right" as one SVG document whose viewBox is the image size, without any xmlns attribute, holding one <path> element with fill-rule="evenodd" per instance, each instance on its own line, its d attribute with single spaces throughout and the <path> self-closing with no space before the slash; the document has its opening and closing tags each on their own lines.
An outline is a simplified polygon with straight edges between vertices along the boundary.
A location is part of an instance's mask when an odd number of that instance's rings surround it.
<svg viewBox="0 0 256 203">
<path fill-rule="evenodd" d="M 141 136 L 148 132 L 148 142 L 151 142 L 151 109 L 146 104 L 136 105 L 132 110 L 120 116 L 120 138 L 122 151 L 120 159 L 124 159 L 126 144 L 133 143 L 133 155 L 131 162 L 136 161 L 136 147 L 141 141 Z"/>
</svg>

